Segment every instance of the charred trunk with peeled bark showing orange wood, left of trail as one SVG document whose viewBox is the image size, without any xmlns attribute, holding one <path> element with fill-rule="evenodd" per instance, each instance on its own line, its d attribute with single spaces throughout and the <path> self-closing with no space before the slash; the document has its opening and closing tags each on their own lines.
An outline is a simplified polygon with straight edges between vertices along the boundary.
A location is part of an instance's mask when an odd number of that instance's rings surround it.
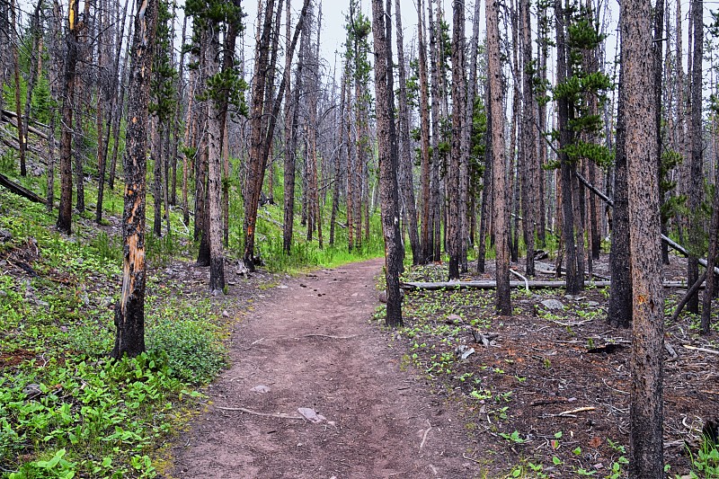
<svg viewBox="0 0 719 479">
<path fill-rule="evenodd" d="M 157 0 L 139 4 L 135 14 L 129 75 L 127 150 L 124 155 L 125 206 L 122 214 L 122 293 L 115 307 L 113 358 L 145 350 L 145 197 L 147 123 L 152 56 L 155 52 Z"/>
</svg>

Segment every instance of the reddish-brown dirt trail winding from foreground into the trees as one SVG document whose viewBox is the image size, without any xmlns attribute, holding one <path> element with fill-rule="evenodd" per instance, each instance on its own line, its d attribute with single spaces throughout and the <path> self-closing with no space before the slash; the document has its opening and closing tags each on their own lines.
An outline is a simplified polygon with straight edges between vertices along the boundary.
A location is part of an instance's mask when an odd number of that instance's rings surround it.
<svg viewBox="0 0 719 479">
<path fill-rule="evenodd" d="M 173 448 L 173 477 L 465 478 L 462 423 L 368 324 L 382 262 L 291 279 L 236 327 L 233 366 Z M 267 393 L 254 392 L 267 386 Z M 264 417 L 221 408 L 326 420 Z"/>
</svg>

